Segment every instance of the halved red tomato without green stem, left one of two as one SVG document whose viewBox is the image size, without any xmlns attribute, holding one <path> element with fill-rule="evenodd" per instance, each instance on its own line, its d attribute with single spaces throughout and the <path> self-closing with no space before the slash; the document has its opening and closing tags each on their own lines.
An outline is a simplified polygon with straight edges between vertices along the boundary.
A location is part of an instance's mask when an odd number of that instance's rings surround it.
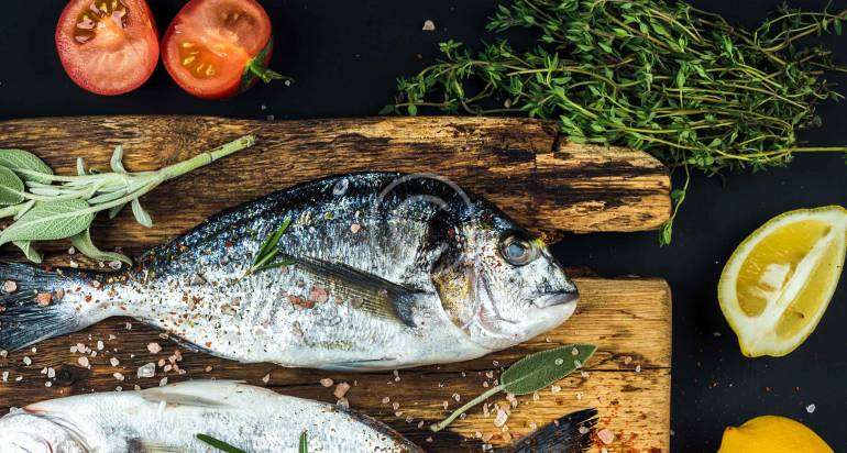
<svg viewBox="0 0 847 453">
<path fill-rule="evenodd" d="M 56 26 L 56 49 L 74 82 L 121 95 L 153 74 L 158 33 L 144 0 L 72 0 Z"/>
</svg>

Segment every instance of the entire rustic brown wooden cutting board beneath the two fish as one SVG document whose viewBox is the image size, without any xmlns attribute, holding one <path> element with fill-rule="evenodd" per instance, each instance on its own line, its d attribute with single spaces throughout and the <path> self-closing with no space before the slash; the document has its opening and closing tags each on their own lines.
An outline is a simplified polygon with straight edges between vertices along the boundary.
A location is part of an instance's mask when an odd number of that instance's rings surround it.
<svg viewBox="0 0 847 453">
<path fill-rule="evenodd" d="M 359 170 L 435 173 L 483 195 L 548 240 L 563 232 L 639 231 L 658 228 L 670 213 L 667 170 L 652 157 L 624 148 L 570 143 L 554 124 L 525 119 L 380 118 L 265 122 L 206 117 L 51 118 L 0 122 L 0 147 L 31 151 L 57 173 L 74 172 L 77 156 L 108 167 L 111 150 L 124 147 L 130 170 L 155 169 L 245 133 L 255 147 L 227 157 L 150 194 L 144 206 L 155 225 L 144 229 L 125 212 L 95 233 L 103 247 L 130 253 L 169 240 L 223 208 L 305 180 Z M 52 264 L 66 263 L 66 243 L 45 244 Z M 3 248 L 2 258 L 19 254 Z M 572 263 L 575 264 L 575 263 Z M 574 273 L 575 270 L 571 270 Z M 626 268 L 620 269 L 626 273 Z M 668 451 L 670 433 L 671 297 L 660 279 L 576 278 L 582 301 L 563 325 L 519 346 L 471 362 L 393 373 L 346 374 L 244 365 L 178 347 L 139 322 L 112 319 L 86 331 L 0 357 L 0 411 L 42 399 L 132 389 L 188 378 L 241 379 L 286 395 L 336 401 L 320 379 L 349 383 L 351 407 L 391 424 L 426 450 L 479 449 L 484 438 L 503 445 L 571 411 L 596 407 L 610 430 L 609 451 Z M 585 373 L 519 397 L 504 429 L 495 410 L 471 410 L 448 431 L 426 427 L 493 385 L 501 371 L 534 351 L 562 343 L 600 346 Z M 151 353 L 148 343 L 163 350 Z M 91 352 L 73 352 L 82 344 Z M 100 349 L 102 346 L 102 349 Z M 76 350 L 76 347 L 73 347 Z M 146 363 L 153 378 L 139 378 Z M 24 364 L 24 356 L 32 360 Z M 110 362 L 117 358 L 119 364 Z M 85 366 L 87 365 L 87 366 Z M 42 372 L 55 369 L 50 379 Z M 120 375 L 116 375 L 120 373 Z M 120 380 L 120 379 L 123 380 Z M 50 384 L 50 386 L 47 386 Z M 457 401 L 457 398 L 459 401 Z M 491 404 L 507 405 L 505 395 Z M 444 408 L 447 405 L 447 409 Z M 422 422 L 422 424 L 421 424 Z M 601 442 L 597 440 L 597 449 Z"/>
</svg>

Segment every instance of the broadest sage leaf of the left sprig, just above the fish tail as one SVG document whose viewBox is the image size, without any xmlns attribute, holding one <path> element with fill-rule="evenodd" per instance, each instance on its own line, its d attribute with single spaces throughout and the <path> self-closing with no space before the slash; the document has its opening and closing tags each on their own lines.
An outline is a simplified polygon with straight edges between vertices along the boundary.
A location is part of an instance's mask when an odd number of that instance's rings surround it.
<svg viewBox="0 0 847 453">
<path fill-rule="evenodd" d="M 0 233 L 0 245 L 70 237 L 87 229 L 94 218 L 84 200 L 40 201 Z"/>
</svg>

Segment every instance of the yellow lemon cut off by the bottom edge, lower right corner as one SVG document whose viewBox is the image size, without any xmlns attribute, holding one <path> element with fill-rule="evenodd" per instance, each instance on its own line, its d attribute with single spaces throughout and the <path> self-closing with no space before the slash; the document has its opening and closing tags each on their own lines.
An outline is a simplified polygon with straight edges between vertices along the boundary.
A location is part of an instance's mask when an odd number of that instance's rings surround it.
<svg viewBox="0 0 847 453">
<path fill-rule="evenodd" d="M 724 431 L 717 453 L 833 453 L 833 449 L 803 423 L 777 417 L 757 417 Z"/>
</svg>

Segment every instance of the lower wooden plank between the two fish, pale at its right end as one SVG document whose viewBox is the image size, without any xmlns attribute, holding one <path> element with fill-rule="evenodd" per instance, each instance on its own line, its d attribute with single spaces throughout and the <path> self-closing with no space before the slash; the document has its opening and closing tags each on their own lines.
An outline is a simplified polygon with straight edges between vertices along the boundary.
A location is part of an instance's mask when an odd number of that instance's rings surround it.
<svg viewBox="0 0 847 453">
<path fill-rule="evenodd" d="M 131 389 L 158 385 L 164 377 L 174 383 L 189 378 L 242 379 L 274 390 L 305 398 L 334 402 L 333 388 L 324 388 L 324 377 L 334 383 L 346 382 L 353 387 L 346 397 L 351 407 L 391 424 L 427 451 L 455 451 L 458 445 L 479 449 L 476 432 L 491 435 L 495 445 L 530 432 L 532 423 L 542 426 L 574 410 L 596 407 L 600 428 L 615 433 L 607 445 L 613 452 L 667 452 L 670 432 L 670 354 L 671 298 L 668 285 L 658 279 L 578 278 L 582 301 L 576 313 L 563 325 L 546 335 L 486 357 L 441 366 L 427 366 L 392 373 L 334 373 L 314 369 L 282 368 L 272 364 L 244 365 L 189 352 L 162 339 L 156 331 L 129 319 L 103 321 L 82 332 L 44 341 L 32 350 L 9 353 L 0 360 L 0 371 L 9 372 L 8 382 L 0 383 L 0 412 L 8 407 L 24 406 L 42 399 L 90 391 Z M 127 329 L 130 322 L 131 330 Z M 111 335 L 111 336 L 110 336 Z M 97 342 L 103 342 L 98 351 Z M 147 351 L 148 343 L 158 343 L 158 354 Z M 518 397 L 517 407 L 506 424 L 508 435 L 494 427 L 494 404 L 507 405 L 505 395 L 490 400 L 491 415 L 482 407 L 471 410 L 447 432 L 433 434 L 427 430 L 431 422 L 443 418 L 461 402 L 485 390 L 483 383 L 493 384 L 501 371 L 517 358 L 536 351 L 571 342 L 590 342 L 600 346 L 586 364 L 586 375 L 573 374 L 557 383 L 560 391 L 548 388 L 534 397 Z M 81 343 L 97 352 L 85 354 L 90 368 L 80 366 L 84 354 L 70 347 Z M 185 369 L 165 372 L 157 366 L 156 376 L 138 378 L 136 369 L 146 363 L 169 364 L 168 356 L 180 351 L 176 364 Z M 24 366 L 23 357 L 32 360 Z M 110 358 L 120 361 L 110 365 Z M 85 362 L 84 362 L 85 363 Z M 56 378 L 47 379 L 42 371 L 56 369 Z M 207 371 L 211 367 L 210 371 Z M 121 373 L 124 380 L 118 380 Z M 16 382 L 18 377 L 22 380 Z M 265 383 L 264 379 L 267 379 Z M 51 387 L 45 387 L 47 380 Z M 388 402 L 383 402 L 384 398 Z M 449 410 L 443 407 L 448 402 Z M 397 408 L 393 406 L 397 404 Z M 504 406 L 505 407 L 505 406 Z M 419 423 L 424 421 L 422 428 Z M 600 441 L 597 441 L 600 442 Z M 595 449 L 598 450 L 598 449 Z"/>
</svg>

